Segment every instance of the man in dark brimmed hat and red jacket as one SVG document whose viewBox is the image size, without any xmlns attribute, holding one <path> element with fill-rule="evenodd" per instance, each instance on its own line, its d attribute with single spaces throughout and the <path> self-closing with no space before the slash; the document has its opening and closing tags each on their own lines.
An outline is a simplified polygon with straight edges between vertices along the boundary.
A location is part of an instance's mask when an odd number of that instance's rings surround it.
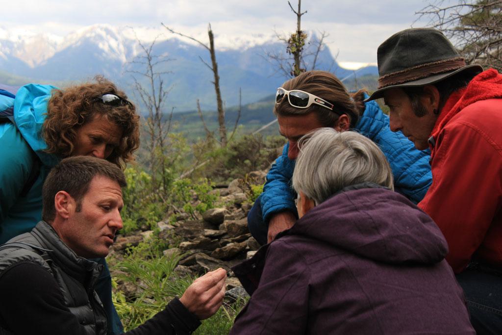
<svg viewBox="0 0 502 335">
<path fill-rule="evenodd" d="M 391 130 L 431 149 L 432 185 L 418 206 L 449 246 L 478 333 L 502 331 L 502 75 L 466 65 L 434 29 L 407 29 L 378 49 Z"/>
</svg>

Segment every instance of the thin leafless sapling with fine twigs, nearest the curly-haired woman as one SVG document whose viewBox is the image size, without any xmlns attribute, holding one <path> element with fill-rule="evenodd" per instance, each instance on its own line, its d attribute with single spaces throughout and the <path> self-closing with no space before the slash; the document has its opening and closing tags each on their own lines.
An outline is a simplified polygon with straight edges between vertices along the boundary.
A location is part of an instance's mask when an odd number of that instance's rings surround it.
<svg viewBox="0 0 502 335">
<path fill-rule="evenodd" d="M 136 39 L 143 52 L 136 56 L 130 64 L 139 65 L 143 69 L 131 69 L 126 72 L 132 75 L 135 91 L 148 113 L 146 129 L 150 140 L 149 155 L 152 181 L 154 185 L 158 186 L 160 176 L 163 189 L 167 191 L 169 181 L 165 173 L 167 162 L 164 156 L 167 150 L 167 135 L 171 131 L 174 107 L 171 109 L 167 122 L 164 122 L 164 103 L 171 88 L 165 87 L 163 76 L 171 71 L 159 70 L 159 66 L 172 61 L 172 59 L 167 56 L 154 55 L 152 50 L 157 39 L 150 45 L 143 44 L 138 37 Z"/>
</svg>

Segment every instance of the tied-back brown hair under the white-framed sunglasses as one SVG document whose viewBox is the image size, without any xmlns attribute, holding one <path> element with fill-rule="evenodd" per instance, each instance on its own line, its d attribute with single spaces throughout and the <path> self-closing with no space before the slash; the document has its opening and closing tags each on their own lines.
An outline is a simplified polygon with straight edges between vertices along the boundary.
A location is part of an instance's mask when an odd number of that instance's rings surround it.
<svg viewBox="0 0 502 335">
<path fill-rule="evenodd" d="M 298 77 L 286 81 L 282 87 L 288 91 L 299 89 L 310 94 L 317 95 L 334 104 L 333 112 L 316 104 L 308 108 L 295 108 L 289 104 L 288 98 L 283 98 L 274 107 L 276 116 L 301 115 L 314 112 L 317 119 L 324 127 L 333 127 L 335 122 L 343 114 L 350 119 L 350 127 L 355 127 L 359 116 L 364 111 L 364 92 L 361 89 L 355 93 L 349 93 L 342 82 L 332 73 L 326 71 L 307 71 Z"/>
</svg>

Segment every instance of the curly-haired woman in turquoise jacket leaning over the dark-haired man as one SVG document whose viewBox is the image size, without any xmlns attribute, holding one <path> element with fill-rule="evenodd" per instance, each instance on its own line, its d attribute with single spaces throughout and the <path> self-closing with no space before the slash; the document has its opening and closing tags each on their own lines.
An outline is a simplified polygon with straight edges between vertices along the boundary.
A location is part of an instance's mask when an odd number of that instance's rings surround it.
<svg viewBox="0 0 502 335">
<path fill-rule="evenodd" d="M 28 84 L 0 92 L 0 244 L 41 220 L 42 185 L 50 169 L 70 156 L 94 156 L 122 168 L 139 147 L 139 116 L 124 92 L 104 79 L 57 89 Z M 108 314 L 108 333 L 122 332 L 104 271 L 96 285 Z"/>
</svg>

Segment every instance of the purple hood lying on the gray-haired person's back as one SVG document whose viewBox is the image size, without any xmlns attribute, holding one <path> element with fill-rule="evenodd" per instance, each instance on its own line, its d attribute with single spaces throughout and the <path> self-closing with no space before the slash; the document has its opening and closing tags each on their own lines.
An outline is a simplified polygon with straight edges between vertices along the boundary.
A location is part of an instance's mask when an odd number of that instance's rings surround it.
<svg viewBox="0 0 502 335">
<path fill-rule="evenodd" d="M 306 236 L 390 264 L 444 259 L 448 245 L 441 231 L 411 201 L 387 188 L 351 188 L 311 209 L 286 235 Z"/>
</svg>

